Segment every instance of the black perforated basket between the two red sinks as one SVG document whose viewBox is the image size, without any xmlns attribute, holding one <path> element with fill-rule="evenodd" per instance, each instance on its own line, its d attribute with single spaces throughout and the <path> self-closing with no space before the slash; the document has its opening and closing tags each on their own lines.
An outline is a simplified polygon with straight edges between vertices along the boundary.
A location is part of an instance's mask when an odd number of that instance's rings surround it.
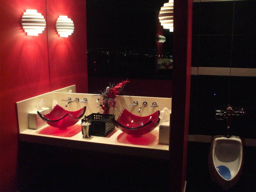
<svg viewBox="0 0 256 192">
<path fill-rule="evenodd" d="M 86 118 L 91 122 L 89 135 L 106 137 L 115 129 L 115 124 L 112 121 L 112 119 L 115 118 L 115 115 L 92 113 L 91 115 L 86 116 Z M 84 120 L 85 119 L 82 119 L 82 123 Z"/>
</svg>

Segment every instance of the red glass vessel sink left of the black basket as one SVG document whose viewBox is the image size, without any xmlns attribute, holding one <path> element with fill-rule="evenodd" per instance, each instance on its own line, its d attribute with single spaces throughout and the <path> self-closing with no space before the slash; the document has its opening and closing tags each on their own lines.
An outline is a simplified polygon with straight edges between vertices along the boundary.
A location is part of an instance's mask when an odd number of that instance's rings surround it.
<svg viewBox="0 0 256 192">
<path fill-rule="evenodd" d="M 68 111 L 59 105 L 55 105 L 50 113 L 42 115 L 37 111 L 37 114 L 46 121 L 48 125 L 58 127 L 59 129 L 67 129 L 67 127 L 76 124 L 79 119 L 84 116 L 85 110 L 86 106 L 77 111 Z"/>
</svg>

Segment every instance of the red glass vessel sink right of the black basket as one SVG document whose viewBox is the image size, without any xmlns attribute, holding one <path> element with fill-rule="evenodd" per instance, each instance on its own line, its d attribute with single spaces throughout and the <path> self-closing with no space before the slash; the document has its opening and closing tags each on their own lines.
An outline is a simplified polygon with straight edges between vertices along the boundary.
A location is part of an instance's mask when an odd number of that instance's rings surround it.
<svg viewBox="0 0 256 192">
<path fill-rule="evenodd" d="M 142 135 L 151 132 L 157 127 L 160 122 L 160 112 L 156 111 L 148 116 L 137 116 L 132 114 L 127 109 L 123 109 L 115 122 L 116 127 L 121 131 L 132 135 L 133 137 L 141 137 Z"/>
</svg>

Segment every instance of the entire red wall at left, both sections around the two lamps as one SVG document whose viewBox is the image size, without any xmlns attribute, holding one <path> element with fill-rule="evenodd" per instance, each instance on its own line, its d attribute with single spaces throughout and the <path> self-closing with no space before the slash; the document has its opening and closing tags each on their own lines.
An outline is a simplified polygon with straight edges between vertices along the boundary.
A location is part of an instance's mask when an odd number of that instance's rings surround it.
<svg viewBox="0 0 256 192">
<path fill-rule="evenodd" d="M 85 3 L 68 0 L 52 0 L 48 3 L 50 58 L 47 45 L 48 25 L 42 34 L 27 36 L 20 24 L 25 9 L 36 9 L 46 18 L 46 1 L 1 1 L 0 191 L 18 190 L 18 124 L 15 102 L 71 84 L 77 85 L 78 92 L 86 92 L 88 89 Z M 53 11 L 55 8 L 58 8 L 56 12 Z M 56 35 L 53 24 L 56 16 L 51 18 L 61 11 L 62 15 L 67 14 L 75 23 L 74 34 L 66 39 Z M 60 67 L 61 72 L 58 71 Z"/>
</svg>

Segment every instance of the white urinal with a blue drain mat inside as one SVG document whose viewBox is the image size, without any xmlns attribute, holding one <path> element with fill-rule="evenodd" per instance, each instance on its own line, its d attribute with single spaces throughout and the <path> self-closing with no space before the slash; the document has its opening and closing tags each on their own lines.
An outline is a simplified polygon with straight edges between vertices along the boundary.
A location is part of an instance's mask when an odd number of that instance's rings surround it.
<svg viewBox="0 0 256 192">
<path fill-rule="evenodd" d="M 215 136 L 208 158 L 212 181 L 227 190 L 239 180 L 243 164 L 243 145 L 240 137 Z"/>
</svg>

